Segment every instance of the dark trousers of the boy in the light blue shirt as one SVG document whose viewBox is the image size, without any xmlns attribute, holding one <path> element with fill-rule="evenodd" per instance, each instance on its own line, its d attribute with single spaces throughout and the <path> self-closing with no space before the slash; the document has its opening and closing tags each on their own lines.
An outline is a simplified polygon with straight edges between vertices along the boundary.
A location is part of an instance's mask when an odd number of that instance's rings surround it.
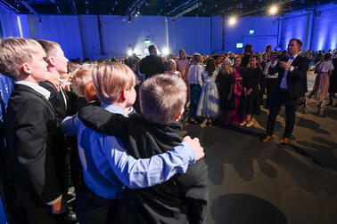
<svg viewBox="0 0 337 224">
<path fill-rule="evenodd" d="M 111 224 L 118 205 L 119 200 L 97 196 L 86 187 L 78 199 L 76 215 L 80 224 Z"/>
</svg>

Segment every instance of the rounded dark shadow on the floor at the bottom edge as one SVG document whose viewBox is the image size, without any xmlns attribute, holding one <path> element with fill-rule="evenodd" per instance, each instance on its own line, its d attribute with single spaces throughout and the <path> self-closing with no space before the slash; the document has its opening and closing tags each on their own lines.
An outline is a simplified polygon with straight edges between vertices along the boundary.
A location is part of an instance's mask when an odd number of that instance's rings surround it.
<svg viewBox="0 0 337 224">
<path fill-rule="evenodd" d="M 211 206 L 216 224 L 287 224 L 284 213 L 274 204 L 245 194 L 218 197 Z"/>
</svg>

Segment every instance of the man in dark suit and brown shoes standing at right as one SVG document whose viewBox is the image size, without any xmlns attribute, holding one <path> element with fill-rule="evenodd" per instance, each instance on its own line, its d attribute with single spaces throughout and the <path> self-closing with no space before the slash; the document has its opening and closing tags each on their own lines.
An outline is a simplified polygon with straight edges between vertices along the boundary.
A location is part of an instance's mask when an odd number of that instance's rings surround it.
<svg viewBox="0 0 337 224">
<path fill-rule="evenodd" d="M 285 106 L 285 129 L 281 144 L 287 144 L 292 135 L 295 124 L 295 108 L 303 92 L 306 92 L 305 80 L 307 80 L 308 58 L 299 55 L 302 42 L 299 39 L 291 39 L 288 44 L 288 57 L 286 59 L 272 59 L 272 66 L 269 68 L 269 74 L 278 72 L 277 82 L 275 84 L 272 100 L 269 108 L 267 120 L 267 136 L 262 140 L 267 142 L 271 140 L 276 116 L 281 105 Z"/>
</svg>

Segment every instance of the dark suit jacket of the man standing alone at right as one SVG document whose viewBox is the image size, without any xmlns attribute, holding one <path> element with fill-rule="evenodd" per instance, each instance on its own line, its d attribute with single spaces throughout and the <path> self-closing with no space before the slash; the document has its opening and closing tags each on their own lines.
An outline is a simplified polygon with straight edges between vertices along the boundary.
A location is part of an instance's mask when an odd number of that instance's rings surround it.
<svg viewBox="0 0 337 224">
<path fill-rule="evenodd" d="M 307 71 L 309 66 L 308 58 L 302 57 L 298 55 L 296 59 L 292 61 L 292 67 L 294 70 L 288 72 L 287 76 L 287 86 L 288 86 L 288 93 L 291 99 L 299 98 L 305 92 L 308 91 L 307 87 Z M 276 95 L 280 92 L 280 85 L 282 79 L 284 78 L 284 68 L 280 68 L 278 64 L 275 68 L 269 68 L 269 74 L 274 75 L 278 72 L 277 82 L 275 84 L 273 94 Z"/>
</svg>

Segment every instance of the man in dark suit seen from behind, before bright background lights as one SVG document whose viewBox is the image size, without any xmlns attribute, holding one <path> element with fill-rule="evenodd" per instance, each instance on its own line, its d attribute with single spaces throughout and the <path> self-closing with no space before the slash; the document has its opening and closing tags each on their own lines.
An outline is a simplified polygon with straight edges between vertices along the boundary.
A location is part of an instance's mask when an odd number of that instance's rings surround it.
<svg viewBox="0 0 337 224">
<path fill-rule="evenodd" d="M 162 74 L 165 71 L 164 61 L 157 55 L 155 45 L 149 46 L 149 53 L 149 56 L 146 56 L 139 62 L 139 71 L 145 75 L 145 79 L 157 74 Z"/>
</svg>

